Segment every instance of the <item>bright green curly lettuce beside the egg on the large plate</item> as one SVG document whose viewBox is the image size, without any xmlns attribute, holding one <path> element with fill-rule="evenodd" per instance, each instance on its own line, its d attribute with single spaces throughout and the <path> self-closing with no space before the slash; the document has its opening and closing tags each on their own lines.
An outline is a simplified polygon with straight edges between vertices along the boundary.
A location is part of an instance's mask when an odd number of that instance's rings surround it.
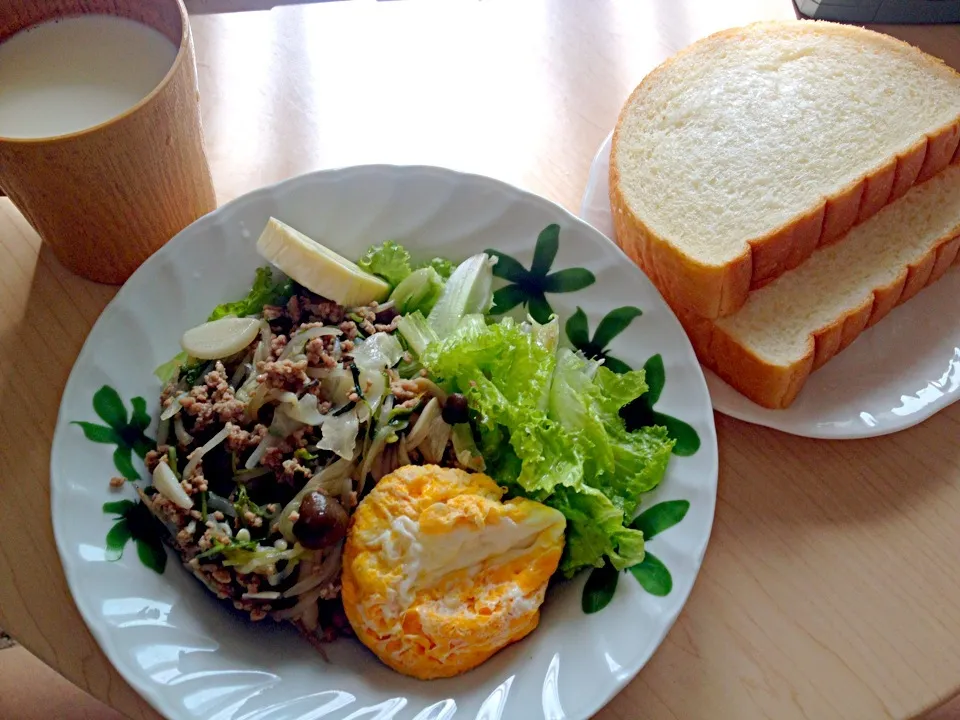
<svg viewBox="0 0 960 720">
<path fill-rule="evenodd" d="M 617 375 L 557 351 L 555 325 L 467 316 L 422 360 L 466 396 L 487 472 L 566 516 L 564 573 L 606 559 L 622 570 L 643 560 L 643 533 L 629 523 L 640 494 L 663 478 L 673 441 L 661 427 L 628 432 L 620 418 L 647 391 L 642 370 Z"/>
</svg>

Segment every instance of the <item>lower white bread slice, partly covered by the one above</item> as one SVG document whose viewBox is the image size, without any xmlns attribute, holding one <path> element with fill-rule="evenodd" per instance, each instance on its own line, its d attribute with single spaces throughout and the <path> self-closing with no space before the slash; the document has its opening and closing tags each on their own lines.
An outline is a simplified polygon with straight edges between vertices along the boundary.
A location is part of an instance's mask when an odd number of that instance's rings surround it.
<svg viewBox="0 0 960 720">
<path fill-rule="evenodd" d="M 958 250 L 960 166 L 951 165 L 751 292 L 733 315 L 680 319 L 703 364 L 755 403 L 784 408 L 812 371 L 938 280 Z"/>
</svg>

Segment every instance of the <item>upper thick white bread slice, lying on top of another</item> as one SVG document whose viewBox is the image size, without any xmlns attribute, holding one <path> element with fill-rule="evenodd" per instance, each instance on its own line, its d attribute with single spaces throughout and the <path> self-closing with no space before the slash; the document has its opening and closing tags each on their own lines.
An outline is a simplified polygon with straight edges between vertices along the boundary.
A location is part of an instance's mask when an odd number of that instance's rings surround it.
<svg viewBox="0 0 960 720">
<path fill-rule="evenodd" d="M 958 141 L 960 74 L 906 43 L 826 22 L 727 30 L 624 106 L 616 238 L 672 305 L 721 317 L 942 170 Z"/>
</svg>

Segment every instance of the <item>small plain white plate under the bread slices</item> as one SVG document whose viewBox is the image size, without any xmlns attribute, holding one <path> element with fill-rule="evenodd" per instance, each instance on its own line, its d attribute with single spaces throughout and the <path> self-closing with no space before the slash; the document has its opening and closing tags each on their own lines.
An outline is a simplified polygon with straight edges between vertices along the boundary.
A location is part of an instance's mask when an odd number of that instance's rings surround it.
<svg viewBox="0 0 960 720">
<path fill-rule="evenodd" d="M 612 136 L 593 159 L 580 204 L 580 217 L 610 238 Z M 704 368 L 713 408 L 814 438 L 874 437 L 917 425 L 960 398 L 960 315 L 944 311 L 958 292 L 960 272 L 954 269 L 813 373 L 786 410 L 751 402 Z"/>
</svg>

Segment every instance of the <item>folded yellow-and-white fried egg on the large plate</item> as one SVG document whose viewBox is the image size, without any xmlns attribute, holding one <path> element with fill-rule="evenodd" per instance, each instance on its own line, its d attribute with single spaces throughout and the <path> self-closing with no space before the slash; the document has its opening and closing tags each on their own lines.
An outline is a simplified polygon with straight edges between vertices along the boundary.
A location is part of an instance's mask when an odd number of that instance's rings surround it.
<svg viewBox="0 0 960 720">
<path fill-rule="evenodd" d="M 457 675 L 537 626 L 566 519 L 503 494 L 487 475 L 407 465 L 358 506 L 343 605 L 357 637 L 394 670 Z"/>
</svg>

